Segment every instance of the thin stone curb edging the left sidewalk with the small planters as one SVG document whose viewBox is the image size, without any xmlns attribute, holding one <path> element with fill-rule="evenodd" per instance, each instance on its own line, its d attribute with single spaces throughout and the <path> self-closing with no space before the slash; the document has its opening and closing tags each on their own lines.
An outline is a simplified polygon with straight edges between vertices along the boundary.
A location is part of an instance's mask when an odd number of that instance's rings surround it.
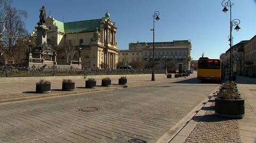
<svg viewBox="0 0 256 143">
<path fill-rule="evenodd" d="M 155 83 L 161 83 L 161 82 L 166 82 L 166 81 L 180 81 L 179 79 L 185 79 L 185 78 L 171 78 L 174 80 L 170 79 L 165 79 L 161 81 L 155 81 L 151 83 L 140 83 L 136 85 L 124 85 L 120 87 L 110 87 L 110 88 L 102 88 L 102 89 L 91 89 L 91 90 L 84 90 L 84 91 L 69 91 L 69 92 L 63 92 L 63 93 L 56 93 L 56 94 L 43 94 L 43 95 L 37 95 L 37 96 L 29 96 L 29 97 L 21 97 L 21 98 L 11 98 L 11 99 L 6 99 L 0 101 L 0 104 L 5 104 L 5 103 L 11 103 L 11 102 L 21 102 L 24 100 L 33 100 L 33 99 L 42 99 L 42 98 L 53 98 L 53 97 L 59 97 L 59 96 L 71 96 L 71 95 L 79 95 L 79 94 L 86 94 L 86 93 L 91 93 L 91 92 L 100 92 L 100 91 L 108 91 L 108 90 L 114 90 L 114 89 L 122 89 L 122 88 L 127 88 L 127 87 L 137 87 L 137 86 L 143 86 L 143 85 L 152 85 Z M 177 80 L 175 80 L 177 79 Z M 187 77 L 187 79 L 191 79 Z"/>
</svg>

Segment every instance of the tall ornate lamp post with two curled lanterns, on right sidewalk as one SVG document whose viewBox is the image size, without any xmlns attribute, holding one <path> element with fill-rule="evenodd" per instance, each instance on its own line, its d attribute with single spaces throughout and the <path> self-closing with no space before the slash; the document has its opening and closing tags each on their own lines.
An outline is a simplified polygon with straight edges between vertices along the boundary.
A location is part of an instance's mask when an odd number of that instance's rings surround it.
<svg viewBox="0 0 256 143">
<path fill-rule="evenodd" d="M 232 10 L 232 6 L 234 5 L 234 3 L 232 3 L 230 0 L 223 0 L 222 3 L 221 3 L 222 6 L 224 6 L 223 8 L 223 12 L 224 13 L 227 13 L 228 9 L 227 7 L 230 7 L 230 39 L 229 39 L 229 46 L 230 46 L 230 68 L 229 68 L 229 74 L 230 74 L 230 77 L 229 77 L 229 80 L 232 81 L 233 80 L 233 63 L 232 63 L 232 29 L 233 29 L 233 26 L 236 26 L 234 29 L 236 31 L 238 31 L 239 29 L 241 29 L 238 25 L 240 23 L 240 20 L 239 19 L 234 19 L 232 20 L 232 16 L 231 16 L 231 10 Z"/>
</svg>

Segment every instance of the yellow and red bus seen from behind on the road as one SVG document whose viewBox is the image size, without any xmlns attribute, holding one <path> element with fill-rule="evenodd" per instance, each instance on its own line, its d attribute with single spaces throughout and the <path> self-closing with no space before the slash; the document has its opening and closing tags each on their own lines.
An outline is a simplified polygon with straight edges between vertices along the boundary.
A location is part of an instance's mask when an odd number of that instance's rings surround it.
<svg viewBox="0 0 256 143">
<path fill-rule="evenodd" d="M 198 60 L 197 79 L 221 81 L 224 77 L 224 72 L 219 59 L 209 59 L 201 57 Z"/>
</svg>

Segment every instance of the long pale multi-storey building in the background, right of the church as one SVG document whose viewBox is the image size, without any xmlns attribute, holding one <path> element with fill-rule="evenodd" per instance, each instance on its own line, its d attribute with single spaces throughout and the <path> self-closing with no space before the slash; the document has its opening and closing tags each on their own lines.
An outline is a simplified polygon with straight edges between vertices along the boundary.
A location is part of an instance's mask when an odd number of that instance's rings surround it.
<svg viewBox="0 0 256 143">
<path fill-rule="evenodd" d="M 182 63 L 183 70 L 190 69 L 191 43 L 189 40 L 155 42 L 154 47 L 155 68 L 164 69 L 166 66 L 168 69 L 178 69 L 179 64 Z M 142 65 L 147 65 L 146 68 L 153 67 L 153 43 L 130 43 L 128 51 L 119 53 L 119 62 L 129 63 L 129 59 L 141 59 Z"/>
</svg>

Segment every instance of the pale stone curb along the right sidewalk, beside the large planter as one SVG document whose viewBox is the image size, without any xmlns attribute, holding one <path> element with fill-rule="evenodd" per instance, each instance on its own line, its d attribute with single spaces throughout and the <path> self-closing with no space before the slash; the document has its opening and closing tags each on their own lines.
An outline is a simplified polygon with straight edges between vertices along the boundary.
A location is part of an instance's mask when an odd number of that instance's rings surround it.
<svg viewBox="0 0 256 143">
<path fill-rule="evenodd" d="M 197 122 L 191 120 L 194 116 L 204 115 L 206 111 L 201 110 L 204 106 L 211 106 L 211 103 L 208 105 L 210 98 L 213 97 L 214 93 L 219 90 L 219 87 L 216 87 L 211 91 L 209 97 L 206 97 L 201 103 L 199 103 L 192 111 L 190 111 L 185 117 L 183 117 L 178 123 L 176 123 L 169 131 L 167 131 L 161 138 L 159 138 L 156 143 L 177 143 L 184 142 L 189 134 L 196 127 Z M 204 104 L 206 103 L 206 104 Z"/>
</svg>

